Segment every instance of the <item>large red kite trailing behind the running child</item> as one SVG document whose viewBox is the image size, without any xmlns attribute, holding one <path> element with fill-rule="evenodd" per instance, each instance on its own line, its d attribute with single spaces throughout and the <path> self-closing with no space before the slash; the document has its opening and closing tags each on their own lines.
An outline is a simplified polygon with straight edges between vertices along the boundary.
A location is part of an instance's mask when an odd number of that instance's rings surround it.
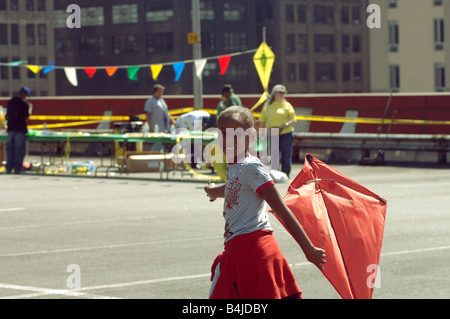
<svg viewBox="0 0 450 319">
<path fill-rule="evenodd" d="M 387 201 L 308 154 L 283 197 L 313 245 L 322 273 L 344 299 L 371 299 Z"/>
</svg>

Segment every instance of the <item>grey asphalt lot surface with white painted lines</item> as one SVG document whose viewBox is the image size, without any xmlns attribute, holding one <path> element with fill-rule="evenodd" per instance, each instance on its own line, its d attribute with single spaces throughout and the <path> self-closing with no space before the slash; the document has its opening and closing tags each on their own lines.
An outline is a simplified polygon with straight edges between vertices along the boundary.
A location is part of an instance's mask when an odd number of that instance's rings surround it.
<svg viewBox="0 0 450 319">
<path fill-rule="evenodd" d="M 373 298 L 450 298 L 449 167 L 331 166 L 389 201 Z M 224 221 L 203 186 L 0 174 L 0 298 L 206 299 Z M 339 299 L 271 220 L 303 298 Z"/>
</svg>

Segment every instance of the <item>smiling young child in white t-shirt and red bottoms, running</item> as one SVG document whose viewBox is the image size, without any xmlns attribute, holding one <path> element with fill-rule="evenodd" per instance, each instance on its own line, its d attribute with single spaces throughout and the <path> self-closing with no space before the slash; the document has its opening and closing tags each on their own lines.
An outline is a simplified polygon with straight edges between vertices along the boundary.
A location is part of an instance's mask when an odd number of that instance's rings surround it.
<svg viewBox="0 0 450 319">
<path fill-rule="evenodd" d="M 303 250 L 306 258 L 323 269 L 325 251 L 314 247 L 257 157 L 248 155 L 249 136 L 240 149 L 226 143 L 227 134 L 236 129 L 252 129 L 251 112 L 242 106 L 224 110 L 218 118 L 223 133 L 222 148 L 228 152 L 226 184 L 205 187 L 210 201 L 224 197 L 225 250 L 211 268 L 211 299 L 280 299 L 301 298 L 294 275 L 272 235 L 266 202 L 283 222 Z M 229 139 L 230 140 L 230 139 Z M 242 141 L 241 141 L 242 142 Z M 242 148 L 242 147 L 241 147 Z"/>
</svg>

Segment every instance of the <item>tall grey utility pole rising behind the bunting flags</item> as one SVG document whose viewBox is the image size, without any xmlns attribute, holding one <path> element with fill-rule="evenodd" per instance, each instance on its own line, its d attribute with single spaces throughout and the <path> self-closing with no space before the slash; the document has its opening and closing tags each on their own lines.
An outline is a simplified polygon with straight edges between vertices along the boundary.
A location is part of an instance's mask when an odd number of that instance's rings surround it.
<svg viewBox="0 0 450 319">
<path fill-rule="evenodd" d="M 200 29 L 200 0 L 191 0 L 192 3 L 192 32 L 197 33 L 198 41 L 192 44 L 192 55 L 194 60 L 201 59 L 202 57 L 202 41 L 201 41 L 201 29 Z M 203 107 L 203 82 L 199 79 L 195 72 L 195 63 L 193 66 L 193 86 L 194 86 L 194 108 Z"/>
</svg>

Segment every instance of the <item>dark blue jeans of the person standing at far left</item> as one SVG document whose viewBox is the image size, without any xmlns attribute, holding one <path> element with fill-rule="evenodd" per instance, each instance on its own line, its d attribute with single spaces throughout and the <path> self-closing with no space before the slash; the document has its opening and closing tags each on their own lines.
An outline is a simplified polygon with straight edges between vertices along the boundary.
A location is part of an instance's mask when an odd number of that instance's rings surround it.
<svg viewBox="0 0 450 319">
<path fill-rule="evenodd" d="M 23 159 L 26 153 L 26 141 L 25 133 L 8 132 L 8 138 L 6 139 L 7 173 L 11 173 L 13 168 L 16 174 L 22 171 Z"/>
</svg>

